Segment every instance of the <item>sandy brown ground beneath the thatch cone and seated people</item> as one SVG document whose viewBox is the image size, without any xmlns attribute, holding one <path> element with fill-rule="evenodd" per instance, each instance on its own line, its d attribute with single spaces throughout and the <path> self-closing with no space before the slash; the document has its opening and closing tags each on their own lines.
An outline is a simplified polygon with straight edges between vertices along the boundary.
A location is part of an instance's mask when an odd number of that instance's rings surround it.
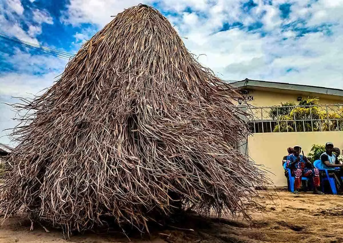
<svg viewBox="0 0 343 243">
<path fill-rule="evenodd" d="M 151 236 L 130 238 L 135 243 L 220 243 L 220 242 L 343 242 L 343 197 L 334 195 L 293 195 L 288 192 L 261 192 L 256 199 L 264 213 L 251 212 L 251 224 L 245 221 L 184 222 L 189 230 L 165 230 Z M 272 200 L 270 199 L 272 197 Z M 64 240 L 60 231 L 46 233 L 29 222 L 11 219 L 0 227 L 0 242 L 129 242 L 120 234 L 84 234 Z"/>
</svg>

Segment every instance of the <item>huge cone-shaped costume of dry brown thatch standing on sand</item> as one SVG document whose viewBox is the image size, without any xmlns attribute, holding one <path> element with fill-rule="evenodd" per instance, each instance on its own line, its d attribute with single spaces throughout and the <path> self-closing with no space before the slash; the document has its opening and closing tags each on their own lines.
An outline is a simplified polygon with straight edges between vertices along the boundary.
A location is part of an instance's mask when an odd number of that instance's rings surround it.
<svg viewBox="0 0 343 243">
<path fill-rule="evenodd" d="M 146 229 L 178 199 L 202 214 L 243 210 L 264 176 L 233 148 L 247 125 L 222 85 L 162 14 L 125 10 L 25 106 L 35 118 L 17 133 L 1 209 L 67 231 L 111 216 Z"/>
</svg>

